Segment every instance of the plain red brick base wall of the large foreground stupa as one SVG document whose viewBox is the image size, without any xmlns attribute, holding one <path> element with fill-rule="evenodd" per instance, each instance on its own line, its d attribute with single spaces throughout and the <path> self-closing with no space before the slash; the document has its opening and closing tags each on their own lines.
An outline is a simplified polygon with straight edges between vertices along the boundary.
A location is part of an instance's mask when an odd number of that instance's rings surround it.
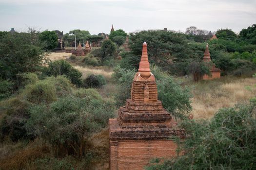
<svg viewBox="0 0 256 170">
<path fill-rule="evenodd" d="M 172 158 L 177 145 L 168 139 L 110 141 L 110 170 L 143 170 L 154 158 Z"/>
</svg>

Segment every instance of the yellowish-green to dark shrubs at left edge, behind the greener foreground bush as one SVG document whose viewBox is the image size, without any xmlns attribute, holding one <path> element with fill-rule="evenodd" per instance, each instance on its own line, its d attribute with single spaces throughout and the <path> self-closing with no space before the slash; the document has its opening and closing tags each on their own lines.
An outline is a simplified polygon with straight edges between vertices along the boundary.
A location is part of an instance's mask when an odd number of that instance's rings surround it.
<svg viewBox="0 0 256 170">
<path fill-rule="evenodd" d="M 29 73 L 27 77 L 35 76 Z M 31 80 L 37 80 L 33 77 Z M 27 134 L 25 124 L 30 117 L 29 108 L 34 104 L 50 104 L 57 101 L 59 97 L 71 93 L 70 81 L 63 77 L 48 77 L 45 80 L 28 81 L 24 89 L 16 97 L 9 98 L 0 103 L 3 108 L 3 119 L 0 122 L 0 138 L 10 137 L 12 141 L 20 139 L 31 139 L 33 136 Z"/>
</svg>

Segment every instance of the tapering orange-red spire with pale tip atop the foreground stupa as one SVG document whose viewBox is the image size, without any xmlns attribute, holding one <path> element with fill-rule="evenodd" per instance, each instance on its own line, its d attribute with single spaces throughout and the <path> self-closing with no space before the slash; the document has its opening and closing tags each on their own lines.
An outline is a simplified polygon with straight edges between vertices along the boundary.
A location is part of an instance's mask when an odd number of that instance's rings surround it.
<svg viewBox="0 0 256 170">
<path fill-rule="evenodd" d="M 138 71 L 140 72 L 140 76 L 143 78 L 147 78 L 151 75 L 151 71 L 149 68 L 148 62 L 148 51 L 147 51 L 147 43 L 144 42 L 142 46 L 142 55 L 139 62 Z"/>
</svg>

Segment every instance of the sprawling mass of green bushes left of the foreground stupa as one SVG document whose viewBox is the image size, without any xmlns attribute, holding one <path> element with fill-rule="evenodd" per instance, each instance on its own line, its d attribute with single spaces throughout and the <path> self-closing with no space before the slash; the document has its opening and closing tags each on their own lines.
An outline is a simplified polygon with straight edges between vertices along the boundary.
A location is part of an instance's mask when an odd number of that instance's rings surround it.
<svg viewBox="0 0 256 170">
<path fill-rule="evenodd" d="M 84 155 L 87 138 L 114 116 L 114 102 L 94 89 L 75 88 L 63 76 L 39 80 L 29 73 L 25 77 L 30 79 L 20 94 L 1 103 L 0 139 L 41 137 L 59 155 Z"/>
</svg>

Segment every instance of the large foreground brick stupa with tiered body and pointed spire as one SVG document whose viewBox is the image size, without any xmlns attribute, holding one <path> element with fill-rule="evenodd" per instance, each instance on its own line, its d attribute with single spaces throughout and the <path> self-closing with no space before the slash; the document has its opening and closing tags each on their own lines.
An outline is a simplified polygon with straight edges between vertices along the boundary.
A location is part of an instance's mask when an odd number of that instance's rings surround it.
<svg viewBox="0 0 256 170">
<path fill-rule="evenodd" d="M 110 170 L 143 170 L 154 158 L 177 156 L 172 136 L 185 137 L 177 122 L 158 101 L 155 76 L 143 43 L 139 69 L 133 79 L 131 99 L 109 119 Z"/>
</svg>

